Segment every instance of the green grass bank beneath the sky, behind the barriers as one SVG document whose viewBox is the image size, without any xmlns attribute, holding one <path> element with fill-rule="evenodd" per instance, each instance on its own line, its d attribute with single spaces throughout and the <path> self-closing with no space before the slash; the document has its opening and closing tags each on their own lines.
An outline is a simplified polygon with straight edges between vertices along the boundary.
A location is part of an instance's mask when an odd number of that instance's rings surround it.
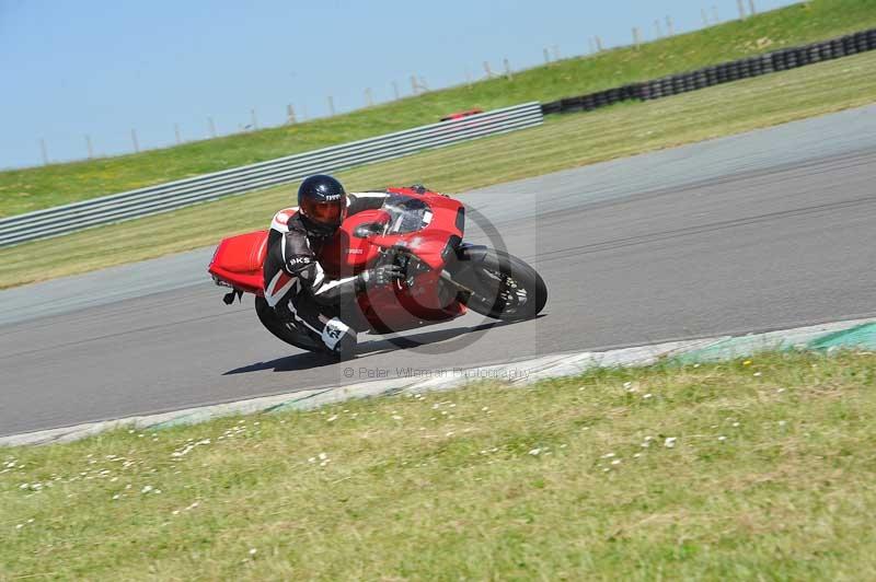
<svg viewBox="0 0 876 582">
<path fill-rule="evenodd" d="M 469 107 L 552 101 L 876 26 L 876 0 L 816 0 L 591 58 L 572 58 L 331 119 L 94 161 L 0 173 L 0 217 L 436 121 Z"/>
</svg>

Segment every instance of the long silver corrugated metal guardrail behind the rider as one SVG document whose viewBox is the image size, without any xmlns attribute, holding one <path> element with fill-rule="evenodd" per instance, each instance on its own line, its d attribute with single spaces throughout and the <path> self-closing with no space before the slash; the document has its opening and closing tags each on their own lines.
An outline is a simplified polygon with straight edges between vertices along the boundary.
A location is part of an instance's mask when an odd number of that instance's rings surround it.
<svg viewBox="0 0 876 582">
<path fill-rule="evenodd" d="M 539 103 L 525 103 L 194 178 L 37 210 L 1 219 L 0 246 L 168 212 L 196 202 L 295 182 L 310 174 L 338 172 L 460 141 L 532 127 L 543 120 Z"/>
</svg>

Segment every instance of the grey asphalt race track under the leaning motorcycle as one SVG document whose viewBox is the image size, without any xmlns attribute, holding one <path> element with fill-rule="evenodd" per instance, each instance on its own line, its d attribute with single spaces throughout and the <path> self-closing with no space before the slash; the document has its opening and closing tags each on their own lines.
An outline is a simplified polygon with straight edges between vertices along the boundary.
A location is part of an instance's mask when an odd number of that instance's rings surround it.
<svg viewBox="0 0 876 582">
<path fill-rule="evenodd" d="M 543 317 L 469 315 L 408 334 L 406 349 L 364 336 L 355 362 L 330 364 L 274 339 L 252 301 L 226 306 L 210 249 L 13 289 L 0 293 L 0 435 L 876 315 L 876 107 L 463 199 L 542 273 Z"/>
</svg>

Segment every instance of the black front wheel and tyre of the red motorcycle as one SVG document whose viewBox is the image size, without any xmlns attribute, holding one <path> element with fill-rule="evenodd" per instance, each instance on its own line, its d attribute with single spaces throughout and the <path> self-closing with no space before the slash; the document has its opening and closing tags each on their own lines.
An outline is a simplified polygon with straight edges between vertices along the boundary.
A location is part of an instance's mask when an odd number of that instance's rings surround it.
<svg viewBox="0 0 876 582">
<path fill-rule="evenodd" d="M 487 249 L 461 273 L 460 282 L 474 291 L 469 309 L 494 319 L 530 319 L 548 302 L 548 286 L 535 269 L 502 251 Z"/>
</svg>

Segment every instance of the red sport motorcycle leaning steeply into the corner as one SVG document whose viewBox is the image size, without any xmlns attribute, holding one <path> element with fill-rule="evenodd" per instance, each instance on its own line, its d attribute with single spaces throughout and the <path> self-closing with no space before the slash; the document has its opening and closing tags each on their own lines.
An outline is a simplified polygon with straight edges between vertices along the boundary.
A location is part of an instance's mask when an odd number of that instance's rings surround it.
<svg viewBox="0 0 876 582">
<path fill-rule="evenodd" d="M 383 206 L 347 217 L 320 253 L 327 278 L 356 275 L 383 264 L 404 269 L 401 281 L 357 296 L 367 331 L 393 334 L 448 322 L 466 309 L 503 321 L 528 319 L 548 301 L 548 288 L 523 260 L 462 241 L 465 207 L 423 187 L 390 188 Z M 230 287 L 230 304 L 253 293 L 262 324 L 279 339 L 310 351 L 324 351 L 319 338 L 277 317 L 264 299 L 262 264 L 267 231 L 219 243 L 208 271 Z"/>
</svg>

